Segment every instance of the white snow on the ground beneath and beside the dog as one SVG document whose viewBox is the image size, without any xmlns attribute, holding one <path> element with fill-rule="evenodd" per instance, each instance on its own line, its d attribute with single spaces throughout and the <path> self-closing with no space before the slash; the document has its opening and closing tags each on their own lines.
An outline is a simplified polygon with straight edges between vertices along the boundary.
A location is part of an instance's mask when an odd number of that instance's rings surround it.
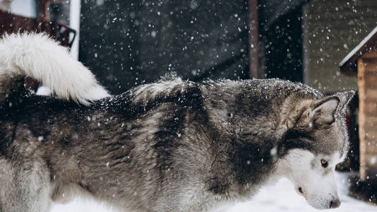
<svg viewBox="0 0 377 212">
<path fill-rule="evenodd" d="M 342 205 L 340 208 L 331 209 L 331 212 L 376 212 L 377 206 L 366 204 L 363 201 L 353 199 L 347 196 L 348 181 L 344 175 L 337 175 L 337 182 L 340 185 L 340 199 Z M 94 201 L 75 199 L 69 204 L 54 204 L 52 212 L 115 212 L 104 204 L 98 204 Z M 318 212 L 315 208 L 306 203 L 304 197 L 297 194 L 293 184 L 287 179 L 281 179 L 277 184 L 264 187 L 261 192 L 256 194 L 251 201 L 235 204 L 226 212 Z"/>
</svg>

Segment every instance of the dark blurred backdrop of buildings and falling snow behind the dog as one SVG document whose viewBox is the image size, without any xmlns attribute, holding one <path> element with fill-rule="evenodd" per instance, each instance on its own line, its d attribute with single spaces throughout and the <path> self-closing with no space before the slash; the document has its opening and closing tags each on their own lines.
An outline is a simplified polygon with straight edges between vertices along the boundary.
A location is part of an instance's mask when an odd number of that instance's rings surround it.
<svg viewBox="0 0 377 212">
<path fill-rule="evenodd" d="M 112 94 L 169 71 L 357 90 L 350 151 L 337 170 L 349 195 L 369 203 L 377 203 L 376 26 L 376 0 L 0 0 L 0 34 L 52 35 Z"/>
</svg>

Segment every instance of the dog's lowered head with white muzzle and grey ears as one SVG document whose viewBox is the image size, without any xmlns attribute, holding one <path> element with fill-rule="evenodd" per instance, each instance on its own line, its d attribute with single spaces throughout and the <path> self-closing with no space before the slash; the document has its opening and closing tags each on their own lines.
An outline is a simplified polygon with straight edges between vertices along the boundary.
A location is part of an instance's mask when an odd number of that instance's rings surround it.
<svg viewBox="0 0 377 212">
<path fill-rule="evenodd" d="M 287 131 L 278 148 L 278 170 L 314 208 L 340 206 L 334 172 L 347 155 L 345 107 L 353 95 L 350 91 L 318 100 L 301 99 L 289 110 Z"/>
</svg>

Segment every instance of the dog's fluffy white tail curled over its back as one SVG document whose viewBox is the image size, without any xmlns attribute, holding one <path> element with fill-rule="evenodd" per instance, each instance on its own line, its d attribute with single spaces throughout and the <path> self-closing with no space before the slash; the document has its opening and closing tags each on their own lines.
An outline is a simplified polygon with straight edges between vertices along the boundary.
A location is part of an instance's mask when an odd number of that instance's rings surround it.
<svg viewBox="0 0 377 212">
<path fill-rule="evenodd" d="M 109 96 L 92 72 L 45 34 L 11 34 L 0 40 L 0 101 L 16 92 L 18 79 L 40 81 L 57 98 L 89 105 Z"/>
</svg>

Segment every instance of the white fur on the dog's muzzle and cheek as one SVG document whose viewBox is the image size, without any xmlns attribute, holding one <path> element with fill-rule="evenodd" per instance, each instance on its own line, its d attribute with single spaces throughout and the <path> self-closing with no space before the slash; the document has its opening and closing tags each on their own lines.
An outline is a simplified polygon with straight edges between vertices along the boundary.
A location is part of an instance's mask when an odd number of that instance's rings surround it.
<svg viewBox="0 0 377 212">
<path fill-rule="evenodd" d="M 322 159 L 328 161 L 328 167 L 322 167 Z M 339 199 L 334 172 L 340 160 L 340 153 L 337 152 L 333 155 L 314 155 L 303 149 L 292 149 L 278 163 L 277 170 L 294 184 L 297 192 L 311 206 L 328 209 L 330 201 Z"/>
</svg>

